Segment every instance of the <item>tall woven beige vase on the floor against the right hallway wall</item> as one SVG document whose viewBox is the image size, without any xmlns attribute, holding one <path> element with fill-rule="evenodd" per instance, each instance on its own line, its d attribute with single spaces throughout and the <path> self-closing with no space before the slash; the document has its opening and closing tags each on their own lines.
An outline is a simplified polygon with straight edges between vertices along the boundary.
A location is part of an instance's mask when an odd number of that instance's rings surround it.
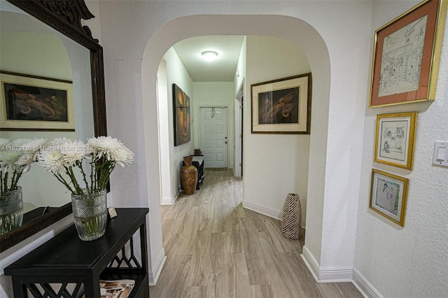
<svg viewBox="0 0 448 298">
<path fill-rule="evenodd" d="M 281 234 L 288 239 L 299 239 L 302 236 L 302 206 L 298 194 L 288 194 L 283 206 Z"/>
</svg>

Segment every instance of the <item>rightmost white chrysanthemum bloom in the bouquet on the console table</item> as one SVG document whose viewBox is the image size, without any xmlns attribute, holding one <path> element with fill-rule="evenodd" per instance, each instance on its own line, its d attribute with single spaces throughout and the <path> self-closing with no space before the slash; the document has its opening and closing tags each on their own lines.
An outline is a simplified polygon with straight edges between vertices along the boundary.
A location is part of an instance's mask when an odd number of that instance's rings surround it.
<svg viewBox="0 0 448 298">
<path fill-rule="evenodd" d="M 98 136 L 97 138 L 89 139 L 88 144 L 94 150 L 96 159 L 104 157 L 121 166 L 125 166 L 123 163 L 130 163 L 134 159 L 134 153 L 126 148 L 122 141 L 111 136 Z"/>
</svg>

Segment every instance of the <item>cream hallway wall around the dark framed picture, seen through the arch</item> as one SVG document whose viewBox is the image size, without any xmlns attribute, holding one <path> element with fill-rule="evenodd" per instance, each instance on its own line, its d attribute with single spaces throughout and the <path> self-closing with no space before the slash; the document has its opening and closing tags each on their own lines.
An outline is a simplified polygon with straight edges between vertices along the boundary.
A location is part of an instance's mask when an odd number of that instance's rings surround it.
<svg viewBox="0 0 448 298">
<path fill-rule="evenodd" d="M 310 135 L 251 134 L 250 85 L 309 73 L 309 62 L 297 45 L 283 38 L 247 36 L 246 47 L 244 207 L 281 218 L 286 196 L 293 192 L 299 194 L 305 219 Z"/>
</svg>

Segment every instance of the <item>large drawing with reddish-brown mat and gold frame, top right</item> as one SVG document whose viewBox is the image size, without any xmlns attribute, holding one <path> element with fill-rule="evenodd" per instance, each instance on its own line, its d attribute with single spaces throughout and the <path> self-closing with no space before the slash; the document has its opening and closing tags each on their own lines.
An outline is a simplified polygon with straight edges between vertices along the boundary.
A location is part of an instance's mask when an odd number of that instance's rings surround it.
<svg viewBox="0 0 448 298">
<path fill-rule="evenodd" d="M 426 0 L 375 31 L 370 108 L 434 100 L 446 13 Z"/>
</svg>

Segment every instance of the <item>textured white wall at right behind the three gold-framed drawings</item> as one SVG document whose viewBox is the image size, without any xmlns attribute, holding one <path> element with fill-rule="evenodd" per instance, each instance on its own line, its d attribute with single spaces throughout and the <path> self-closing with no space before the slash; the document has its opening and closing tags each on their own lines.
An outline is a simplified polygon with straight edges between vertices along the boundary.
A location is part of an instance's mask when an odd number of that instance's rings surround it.
<svg viewBox="0 0 448 298">
<path fill-rule="evenodd" d="M 374 30 L 419 1 L 374 1 Z M 435 101 L 366 108 L 356 232 L 355 273 L 370 297 L 448 297 L 448 169 L 432 166 L 434 141 L 448 140 L 448 27 L 445 25 Z M 377 114 L 418 111 L 414 169 L 373 162 Z M 370 173 L 379 169 L 409 179 L 405 226 L 368 209 Z M 362 285 L 363 283 L 359 283 Z"/>
</svg>

